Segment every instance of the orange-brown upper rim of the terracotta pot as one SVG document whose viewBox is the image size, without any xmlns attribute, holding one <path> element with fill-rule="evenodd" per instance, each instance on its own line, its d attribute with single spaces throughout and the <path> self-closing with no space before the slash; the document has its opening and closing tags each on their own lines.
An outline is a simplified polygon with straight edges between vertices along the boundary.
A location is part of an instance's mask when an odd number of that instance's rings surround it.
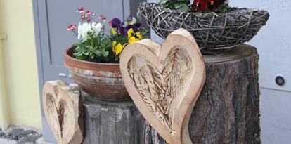
<svg viewBox="0 0 291 144">
<path fill-rule="evenodd" d="M 69 48 L 66 48 L 63 51 L 63 58 L 64 58 L 65 65 L 70 65 L 72 67 L 79 67 L 86 70 L 111 71 L 111 72 L 120 71 L 119 63 L 96 63 L 96 62 L 78 60 L 77 58 L 73 58 L 71 54 L 74 48 L 75 48 L 74 46 L 71 46 Z"/>
</svg>

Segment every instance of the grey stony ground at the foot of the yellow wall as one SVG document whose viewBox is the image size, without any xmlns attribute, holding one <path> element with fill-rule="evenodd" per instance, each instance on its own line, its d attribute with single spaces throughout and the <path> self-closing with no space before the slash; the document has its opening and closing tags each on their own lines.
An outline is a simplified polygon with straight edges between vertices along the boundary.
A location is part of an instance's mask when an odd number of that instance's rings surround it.
<svg viewBox="0 0 291 144">
<path fill-rule="evenodd" d="M 6 131 L 0 129 L 0 144 L 37 143 L 39 138 L 41 133 L 30 128 L 11 126 Z"/>
</svg>

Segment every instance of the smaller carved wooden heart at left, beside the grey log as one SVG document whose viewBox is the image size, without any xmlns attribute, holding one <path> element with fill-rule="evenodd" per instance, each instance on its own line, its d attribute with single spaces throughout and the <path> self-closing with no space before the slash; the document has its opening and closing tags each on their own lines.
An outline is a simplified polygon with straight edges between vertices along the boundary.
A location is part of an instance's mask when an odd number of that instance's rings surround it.
<svg viewBox="0 0 291 144">
<path fill-rule="evenodd" d="M 68 86 L 64 81 L 47 81 L 42 102 L 48 125 L 57 142 L 82 143 L 83 111 L 79 87 Z"/>
</svg>

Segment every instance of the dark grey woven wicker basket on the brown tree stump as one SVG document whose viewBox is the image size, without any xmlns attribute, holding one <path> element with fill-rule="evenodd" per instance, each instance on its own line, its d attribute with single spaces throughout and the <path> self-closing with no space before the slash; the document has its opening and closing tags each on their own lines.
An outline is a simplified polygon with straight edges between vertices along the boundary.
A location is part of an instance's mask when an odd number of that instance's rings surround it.
<svg viewBox="0 0 291 144">
<path fill-rule="evenodd" d="M 184 28 L 195 37 L 202 53 L 221 53 L 250 41 L 269 19 L 267 11 L 233 8 L 227 13 L 189 13 L 143 2 L 138 14 L 162 38 Z"/>
</svg>

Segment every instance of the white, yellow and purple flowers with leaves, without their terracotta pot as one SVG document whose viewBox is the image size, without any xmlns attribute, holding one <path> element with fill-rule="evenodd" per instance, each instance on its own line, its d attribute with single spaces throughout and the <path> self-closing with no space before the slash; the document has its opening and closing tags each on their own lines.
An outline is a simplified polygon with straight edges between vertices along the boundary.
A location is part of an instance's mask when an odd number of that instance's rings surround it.
<svg viewBox="0 0 291 144">
<path fill-rule="evenodd" d="M 131 15 L 125 22 L 119 18 L 113 18 L 108 22 L 109 30 L 106 30 L 104 24 L 107 17 L 105 15 L 99 15 L 100 22 L 93 22 L 91 16 L 95 13 L 90 11 L 84 13 L 83 7 L 77 8 L 77 13 L 81 20 L 79 25 L 68 25 L 67 30 L 72 31 L 79 40 L 77 44 L 74 44 L 75 50 L 71 55 L 78 60 L 118 63 L 124 47 L 143 39 L 147 32 Z"/>
</svg>

